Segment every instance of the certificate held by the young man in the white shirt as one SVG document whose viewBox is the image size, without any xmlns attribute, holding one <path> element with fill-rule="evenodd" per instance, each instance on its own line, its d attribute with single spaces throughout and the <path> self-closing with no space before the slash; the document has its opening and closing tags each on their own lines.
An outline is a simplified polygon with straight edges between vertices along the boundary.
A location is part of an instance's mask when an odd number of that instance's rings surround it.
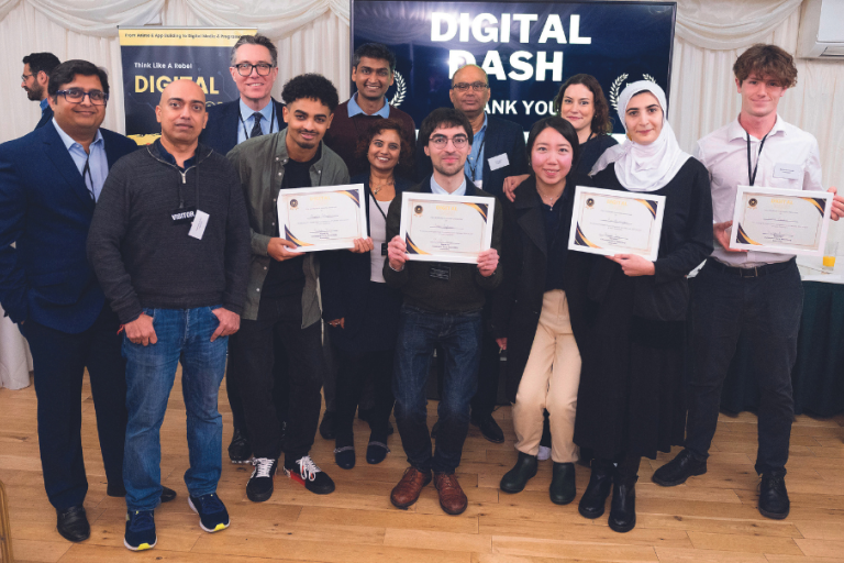
<svg viewBox="0 0 844 563">
<path fill-rule="evenodd" d="M 832 198 L 826 191 L 738 186 L 730 246 L 822 256 Z"/>
</svg>

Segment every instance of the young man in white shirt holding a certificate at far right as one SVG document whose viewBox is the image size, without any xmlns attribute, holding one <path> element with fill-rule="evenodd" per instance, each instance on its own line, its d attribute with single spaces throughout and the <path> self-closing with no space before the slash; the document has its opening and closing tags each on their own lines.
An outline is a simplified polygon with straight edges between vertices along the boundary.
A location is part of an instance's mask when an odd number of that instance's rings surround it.
<svg viewBox="0 0 844 563">
<path fill-rule="evenodd" d="M 738 185 L 821 191 L 821 162 L 814 136 L 777 114 L 780 98 L 797 82 L 791 55 L 776 45 L 757 44 L 738 57 L 733 73 L 742 95 L 741 113 L 698 141 L 695 154 L 712 180 L 717 244 L 692 286 L 695 373 L 686 449 L 653 479 L 674 486 L 707 472 L 721 389 L 744 334 L 752 344 L 760 394 L 755 466 L 762 475 L 759 512 L 782 519 L 789 511 L 785 475 L 795 413 L 791 368 L 803 289 L 793 255 L 731 249 L 730 229 Z M 835 188 L 829 191 L 835 194 Z M 832 219 L 842 214 L 844 198 L 836 196 Z"/>
</svg>

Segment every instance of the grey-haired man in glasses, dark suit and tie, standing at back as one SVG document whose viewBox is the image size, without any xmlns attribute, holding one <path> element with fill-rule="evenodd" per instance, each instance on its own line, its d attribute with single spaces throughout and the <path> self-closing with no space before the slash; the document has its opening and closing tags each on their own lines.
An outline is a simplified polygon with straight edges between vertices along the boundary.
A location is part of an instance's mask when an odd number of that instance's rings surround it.
<svg viewBox="0 0 844 563">
<path fill-rule="evenodd" d="M 278 49 L 273 42 L 264 35 L 243 35 L 232 47 L 231 65 L 229 71 L 241 96 L 234 101 L 209 107 L 208 124 L 199 136 L 200 143 L 222 155 L 229 154 L 247 139 L 278 133 L 284 123 L 281 109 L 285 104 L 270 96 L 278 77 Z M 287 361 L 281 355 L 284 346 L 276 346 L 276 357 L 279 358 L 274 368 L 276 411 L 285 418 Z M 230 369 L 225 377 L 225 391 L 232 408 L 234 432 L 229 444 L 229 459 L 232 463 L 246 463 L 252 457 L 252 445 L 235 378 L 236 375 Z"/>
</svg>

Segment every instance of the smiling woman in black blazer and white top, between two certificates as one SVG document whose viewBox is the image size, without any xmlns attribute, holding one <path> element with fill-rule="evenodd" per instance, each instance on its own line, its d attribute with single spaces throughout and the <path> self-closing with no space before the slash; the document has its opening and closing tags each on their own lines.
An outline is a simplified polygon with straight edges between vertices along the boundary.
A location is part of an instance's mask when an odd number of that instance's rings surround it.
<svg viewBox="0 0 844 563">
<path fill-rule="evenodd" d="M 367 463 L 387 456 L 392 411 L 392 358 L 398 332 L 401 292 L 384 280 L 387 256 L 387 211 L 393 198 L 411 183 L 396 175 L 410 162 L 410 145 L 398 121 L 381 119 L 360 137 L 358 158 L 369 163 L 369 174 L 355 176 L 363 184 L 369 236 L 356 241 L 352 252 L 322 256 L 320 285 L 323 319 L 329 323 L 337 369 L 334 459 L 344 470 L 355 466 L 352 424 L 365 379 L 371 377 L 375 405 L 368 411 Z"/>
</svg>

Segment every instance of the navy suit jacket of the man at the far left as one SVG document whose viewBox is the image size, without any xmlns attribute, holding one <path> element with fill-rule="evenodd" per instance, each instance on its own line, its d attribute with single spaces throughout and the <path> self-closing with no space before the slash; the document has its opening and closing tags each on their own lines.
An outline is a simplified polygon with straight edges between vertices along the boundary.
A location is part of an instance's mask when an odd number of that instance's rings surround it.
<svg viewBox="0 0 844 563">
<path fill-rule="evenodd" d="M 137 150 L 100 131 L 109 168 Z M 0 305 L 12 321 L 76 334 L 97 320 L 104 296 L 86 256 L 93 209 L 52 122 L 0 145 Z"/>
</svg>

